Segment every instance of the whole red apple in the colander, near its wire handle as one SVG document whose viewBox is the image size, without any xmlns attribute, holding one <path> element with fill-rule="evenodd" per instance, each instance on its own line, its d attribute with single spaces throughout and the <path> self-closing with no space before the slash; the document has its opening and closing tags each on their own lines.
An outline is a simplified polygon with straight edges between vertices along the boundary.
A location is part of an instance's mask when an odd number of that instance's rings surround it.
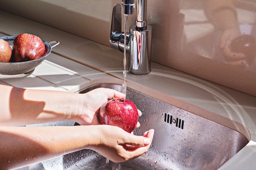
<svg viewBox="0 0 256 170">
<path fill-rule="evenodd" d="M 45 53 L 44 42 L 36 35 L 22 33 L 13 41 L 14 62 L 36 60 Z"/>
</svg>

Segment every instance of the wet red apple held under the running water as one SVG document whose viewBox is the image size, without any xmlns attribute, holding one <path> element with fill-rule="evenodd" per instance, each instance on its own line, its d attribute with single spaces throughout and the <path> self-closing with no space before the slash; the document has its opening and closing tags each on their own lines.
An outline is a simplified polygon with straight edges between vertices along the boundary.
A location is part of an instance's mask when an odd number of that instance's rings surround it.
<svg viewBox="0 0 256 170">
<path fill-rule="evenodd" d="M 128 99 L 111 99 L 100 108 L 99 120 L 101 124 L 118 126 L 126 132 L 132 132 L 138 122 L 138 110 Z"/>
</svg>

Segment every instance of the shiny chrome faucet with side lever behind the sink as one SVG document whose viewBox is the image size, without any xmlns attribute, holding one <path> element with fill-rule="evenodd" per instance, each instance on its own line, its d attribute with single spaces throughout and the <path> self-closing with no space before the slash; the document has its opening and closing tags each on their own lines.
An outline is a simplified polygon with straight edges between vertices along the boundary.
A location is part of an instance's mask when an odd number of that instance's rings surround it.
<svg viewBox="0 0 256 170">
<path fill-rule="evenodd" d="M 137 0 L 136 21 L 130 26 L 129 34 L 121 31 L 121 13 L 132 14 L 134 6 L 134 0 L 121 0 L 121 5 L 115 4 L 112 13 L 110 45 L 124 52 L 124 36 L 126 36 L 126 52 L 129 53 L 128 71 L 132 74 L 144 75 L 151 71 L 152 26 L 148 25 L 146 20 L 147 0 Z"/>
</svg>

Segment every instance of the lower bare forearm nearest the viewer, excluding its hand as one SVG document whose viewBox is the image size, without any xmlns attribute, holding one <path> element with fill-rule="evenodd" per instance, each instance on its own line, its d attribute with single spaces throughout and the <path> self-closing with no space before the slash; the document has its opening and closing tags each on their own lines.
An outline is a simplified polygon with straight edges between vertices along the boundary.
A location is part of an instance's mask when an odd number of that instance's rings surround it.
<svg viewBox="0 0 256 170">
<path fill-rule="evenodd" d="M 95 143 L 98 133 L 94 127 L 0 127 L 0 169 L 27 166 L 87 148 Z"/>
</svg>

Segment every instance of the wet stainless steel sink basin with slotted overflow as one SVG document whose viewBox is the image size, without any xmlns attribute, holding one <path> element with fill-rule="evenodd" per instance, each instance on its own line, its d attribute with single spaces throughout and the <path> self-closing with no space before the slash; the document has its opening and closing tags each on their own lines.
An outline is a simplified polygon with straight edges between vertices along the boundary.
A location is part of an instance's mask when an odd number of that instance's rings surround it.
<svg viewBox="0 0 256 170">
<path fill-rule="evenodd" d="M 123 88 L 118 84 L 98 84 L 79 93 L 99 87 L 117 91 Z M 142 135 L 150 128 L 155 129 L 153 143 L 146 154 L 132 161 L 113 163 L 85 149 L 37 163 L 30 166 L 30 170 L 217 170 L 250 140 L 242 134 L 247 129 L 235 121 L 225 120 L 227 125 L 220 124 L 131 88 L 127 88 L 127 99 L 143 113 L 139 117 L 141 126 L 134 134 Z M 239 130 L 229 128 L 230 124 L 235 124 Z M 76 123 L 55 122 L 40 126 L 53 125 L 73 126 Z"/>
</svg>

